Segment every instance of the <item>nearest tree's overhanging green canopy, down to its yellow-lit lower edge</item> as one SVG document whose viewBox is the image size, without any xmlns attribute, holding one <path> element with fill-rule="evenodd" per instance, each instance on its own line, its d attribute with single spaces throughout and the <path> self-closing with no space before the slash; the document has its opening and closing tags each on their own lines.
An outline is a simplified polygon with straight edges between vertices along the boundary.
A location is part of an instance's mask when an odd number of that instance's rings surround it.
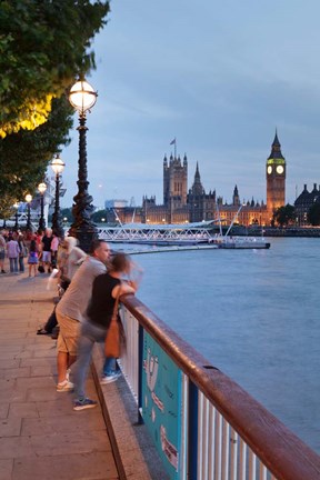
<svg viewBox="0 0 320 480">
<path fill-rule="evenodd" d="M 96 68 L 89 49 L 108 12 L 108 1 L 1 1 L 0 137 L 44 123 L 52 99 Z"/>
</svg>

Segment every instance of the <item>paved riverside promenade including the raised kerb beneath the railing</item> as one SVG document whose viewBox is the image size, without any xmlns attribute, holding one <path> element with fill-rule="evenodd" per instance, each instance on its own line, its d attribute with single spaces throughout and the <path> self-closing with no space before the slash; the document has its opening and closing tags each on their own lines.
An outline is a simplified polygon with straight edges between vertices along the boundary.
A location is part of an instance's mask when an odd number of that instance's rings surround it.
<svg viewBox="0 0 320 480">
<path fill-rule="evenodd" d="M 48 274 L 0 277 L 0 480 L 164 479 L 124 380 L 100 387 L 98 346 L 87 384 L 98 408 L 73 411 L 72 394 L 56 391 L 57 341 L 36 334 L 57 294 L 47 283 Z"/>
</svg>

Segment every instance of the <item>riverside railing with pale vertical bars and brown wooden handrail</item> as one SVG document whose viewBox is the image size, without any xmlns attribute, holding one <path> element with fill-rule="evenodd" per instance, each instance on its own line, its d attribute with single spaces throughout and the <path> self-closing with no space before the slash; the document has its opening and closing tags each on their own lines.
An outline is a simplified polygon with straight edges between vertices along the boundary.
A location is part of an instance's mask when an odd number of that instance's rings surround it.
<svg viewBox="0 0 320 480">
<path fill-rule="evenodd" d="M 320 479 L 320 457 L 313 450 L 241 387 L 211 366 L 136 297 L 122 297 L 121 302 L 127 333 L 127 350 L 121 358 L 121 368 L 143 421 L 151 424 L 153 440 L 161 437 L 160 450 L 164 463 L 168 463 L 170 478 Z M 154 418 L 164 414 L 166 404 L 162 404 L 163 399 L 161 393 L 159 398 L 157 387 L 154 389 L 154 384 L 150 386 L 152 378 L 146 380 L 148 362 L 150 363 L 150 342 L 151 350 L 154 346 L 159 349 L 158 357 L 161 358 L 163 352 L 172 361 L 172 369 L 178 370 L 179 411 L 178 416 L 169 412 L 172 417 L 178 417 L 178 440 L 174 446 L 162 423 L 161 431 L 156 431 L 153 427 L 153 414 Z M 158 357 L 153 360 L 157 368 L 161 368 L 158 366 L 161 363 Z M 151 373 L 154 364 L 153 362 L 152 369 L 150 368 Z M 169 390 L 164 384 L 164 393 L 166 389 Z M 152 416 L 148 413 L 148 392 L 151 393 L 150 399 L 154 400 Z M 174 397 L 173 393 L 171 396 Z"/>
</svg>

